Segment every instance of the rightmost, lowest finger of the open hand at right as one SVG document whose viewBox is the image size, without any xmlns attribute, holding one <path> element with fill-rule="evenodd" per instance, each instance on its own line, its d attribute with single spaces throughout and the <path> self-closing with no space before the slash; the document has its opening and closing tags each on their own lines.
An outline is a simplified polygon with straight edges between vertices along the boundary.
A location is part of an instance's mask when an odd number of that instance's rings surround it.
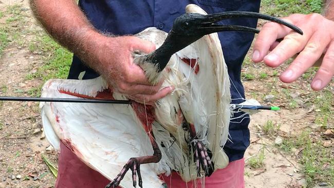
<svg viewBox="0 0 334 188">
<path fill-rule="evenodd" d="M 326 51 L 322 64 L 314 76 L 311 87 L 314 90 L 321 90 L 330 82 L 334 76 L 334 42 Z"/>
</svg>

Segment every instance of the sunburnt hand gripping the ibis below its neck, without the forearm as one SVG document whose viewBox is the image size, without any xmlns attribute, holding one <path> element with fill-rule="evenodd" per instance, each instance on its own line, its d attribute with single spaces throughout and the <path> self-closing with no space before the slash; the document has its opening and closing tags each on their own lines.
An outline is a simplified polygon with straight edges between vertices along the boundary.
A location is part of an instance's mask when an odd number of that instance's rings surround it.
<svg viewBox="0 0 334 188">
<path fill-rule="evenodd" d="M 96 57 L 100 66 L 98 71 L 106 81 L 120 93 L 137 102 L 153 104 L 154 101 L 163 98 L 171 91 L 171 87 L 160 90 L 161 82 L 152 86 L 145 77 L 144 71 L 133 63 L 132 53 L 135 50 L 150 53 L 155 50 L 155 45 L 139 39 L 136 36 L 103 36 L 97 42 L 97 46 L 89 54 Z"/>
</svg>

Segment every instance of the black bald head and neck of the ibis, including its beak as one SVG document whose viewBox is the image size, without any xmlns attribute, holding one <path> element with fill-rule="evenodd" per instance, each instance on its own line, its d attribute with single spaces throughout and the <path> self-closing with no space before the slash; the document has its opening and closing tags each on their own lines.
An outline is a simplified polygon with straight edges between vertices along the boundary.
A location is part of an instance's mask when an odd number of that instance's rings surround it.
<svg viewBox="0 0 334 188">
<path fill-rule="evenodd" d="M 148 54 L 146 60 L 147 62 L 152 62 L 153 64 L 157 65 L 157 71 L 160 72 L 163 70 L 175 52 L 187 47 L 206 34 L 221 31 L 246 31 L 253 33 L 259 32 L 259 30 L 255 28 L 245 26 L 217 24 L 219 21 L 236 17 L 261 18 L 285 25 L 295 32 L 303 34 L 301 29 L 292 24 L 280 20 L 279 18 L 256 12 L 232 11 L 208 15 L 199 13 L 185 13 L 176 18 L 172 30 L 169 32 L 164 43 L 152 54 Z"/>
</svg>

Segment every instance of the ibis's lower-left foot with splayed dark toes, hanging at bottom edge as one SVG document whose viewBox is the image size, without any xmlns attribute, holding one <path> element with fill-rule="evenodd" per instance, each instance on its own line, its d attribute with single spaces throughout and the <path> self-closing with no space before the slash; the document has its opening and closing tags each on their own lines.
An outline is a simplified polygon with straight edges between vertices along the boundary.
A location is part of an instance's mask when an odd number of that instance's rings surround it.
<svg viewBox="0 0 334 188">
<path fill-rule="evenodd" d="M 136 187 L 137 185 L 137 175 L 138 175 L 138 185 L 139 187 L 143 187 L 142 179 L 141 179 L 141 174 L 140 174 L 140 164 L 138 163 L 137 158 L 130 158 L 127 163 L 124 165 L 122 168 L 121 172 L 116 176 L 116 178 L 107 184 L 105 188 L 115 188 L 117 187 L 122 179 L 124 178 L 126 172 L 131 169 L 132 171 L 132 181 L 133 181 L 133 186 Z"/>
</svg>

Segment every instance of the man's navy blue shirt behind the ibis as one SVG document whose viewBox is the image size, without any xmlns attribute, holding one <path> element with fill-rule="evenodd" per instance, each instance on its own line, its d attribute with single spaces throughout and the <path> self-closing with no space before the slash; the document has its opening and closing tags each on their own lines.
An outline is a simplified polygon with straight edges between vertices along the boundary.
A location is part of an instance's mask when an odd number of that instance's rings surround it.
<svg viewBox="0 0 334 188">
<path fill-rule="evenodd" d="M 209 14 L 233 10 L 258 12 L 260 0 L 80 0 L 79 6 L 97 29 L 124 35 L 139 33 L 147 27 L 156 27 L 169 32 L 175 18 L 183 14 L 185 6 L 190 3 L 200 6 Z M 256 27 L 257 20 L 254 18 L 233 18 L 221 21 L 219 24 Z M 245 92 L 240 81 L 240 70 L 254 34 L 229 31 L 220 32 L 218 35 L 232 82 L 232 102 L 243 102 Z M 74 56 L 68 78 L 78 79 L 79 74 L 83 71 L 86 71 L 83 79 L 99 76 Z M 241 115 L 238 113 L 234 117 Z M 230 123 L 229 131 L 232 142 L 228 141 L 224 146 L 230 161 L 243 158 L 246 148 L 249 146 L 249 118 L 234 119 L 233 122 L 238 123 Z"/>
</svg>

